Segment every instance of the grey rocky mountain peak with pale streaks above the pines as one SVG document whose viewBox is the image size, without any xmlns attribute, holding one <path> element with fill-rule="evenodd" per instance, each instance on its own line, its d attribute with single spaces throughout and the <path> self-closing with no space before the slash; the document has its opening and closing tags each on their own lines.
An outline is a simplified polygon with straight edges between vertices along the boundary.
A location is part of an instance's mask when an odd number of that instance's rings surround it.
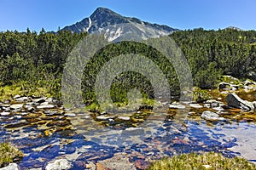
<svg viewBox="0 0 256 170">
<path fill-rule="evenodd" d="M 96 8 L 96 11 L 89 18 L 84 18 L 66 26 L 63 30 L 89 33 L 101 33 L 108 38 L 108 41 L 118 42 L 121 39 L 145 40 L 151 37 L 161 37 L 178 31 L 175 28 L 165 25 L 151 24 L 134 17 L 125 17 L 113 12 L 108 8 Z"/>
</svg>

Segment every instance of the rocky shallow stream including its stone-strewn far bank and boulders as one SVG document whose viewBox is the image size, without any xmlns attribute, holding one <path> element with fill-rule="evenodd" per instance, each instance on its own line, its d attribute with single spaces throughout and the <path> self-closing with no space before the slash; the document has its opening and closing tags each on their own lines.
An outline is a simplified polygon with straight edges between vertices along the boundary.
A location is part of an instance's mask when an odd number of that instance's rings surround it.
<svg viewBox="0 0 256 170">
<path fill-rule="evenodd" d="M 70 110 L 55 99 L 17 95 L 0 103 L 0 142 L 24 152 L 17 166 L 9 165 L 21 169 L 145 169 L 163 156 L 191 151 L 255 161 L 253 140 L 242 134 L 256 129 L 256 83 L 230 79 L 207 91 L 212 99 L 162 103 L 168 109 L 158 113 L 145 107 L 122 115 Z"/>
</svg>

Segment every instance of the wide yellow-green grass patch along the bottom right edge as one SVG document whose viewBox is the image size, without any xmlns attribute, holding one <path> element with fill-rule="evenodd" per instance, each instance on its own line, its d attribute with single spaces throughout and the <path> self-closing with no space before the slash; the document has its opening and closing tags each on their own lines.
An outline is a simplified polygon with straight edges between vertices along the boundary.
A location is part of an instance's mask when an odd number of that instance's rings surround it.
<svg viewBox="0 0 256 170">
<path fill-rule="evenodd" d="M 208 152 L 204 154 L 182 154 L 155 161 L 148 170 L 255 170 L 256 165 L 241 157 L 226 158 L 221 154 Z"/>
</svg>

